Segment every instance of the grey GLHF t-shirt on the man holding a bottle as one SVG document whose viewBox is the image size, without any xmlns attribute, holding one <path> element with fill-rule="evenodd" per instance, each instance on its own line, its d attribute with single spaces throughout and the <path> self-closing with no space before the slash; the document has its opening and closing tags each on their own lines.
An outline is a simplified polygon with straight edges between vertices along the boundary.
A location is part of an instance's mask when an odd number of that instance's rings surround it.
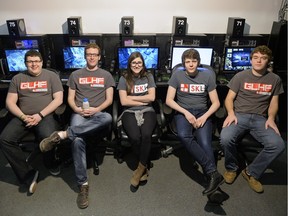
<svg viewBox="0 0 288 216">
<path fill-rule="evenodd" d="M 81 68 L 70 75 L 67 85 L 76 91 L 77 106 L 82 106 L 83 99 L 88 98 L 90 106 L 97 107 L 106 100 L 106 89 L 115 87 L 115 81 L 112 75 L 102 68 L 95 71 Z"/>
</svg>

